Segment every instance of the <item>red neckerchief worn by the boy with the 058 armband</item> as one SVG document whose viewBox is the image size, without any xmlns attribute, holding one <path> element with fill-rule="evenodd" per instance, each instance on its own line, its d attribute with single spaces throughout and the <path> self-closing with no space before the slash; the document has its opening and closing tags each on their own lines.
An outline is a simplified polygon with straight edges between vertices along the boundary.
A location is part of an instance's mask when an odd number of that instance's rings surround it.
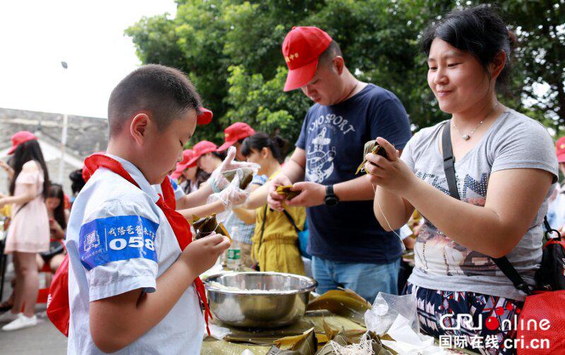
<svg viewBox="0 0 565 355">
<path fill-rule="evenodd" d="M 130 183 L 133 183 L 133 185 L 139 188 L 138 183 L 133 180 L 129 172 L 127 172 L 126 169 L 124 169 L 124 167 L 122 167 L 117 160 L 114 160 L 107 155 L 90 155 L 90 157 L 85 159 L 84 163 L 91 176 L 92 174 L 94 174 L 96 169 L 103 167 L 114 172 L 115 174 L 118 174 L 119 176 L 126 179 Z M 174 191 L 171 186 L 171 181 L 169 181 L 168 177 L 165 177 L 165 180 L 163 180 L 163 182 L 161 183 L 161 188 L 165 199 L 163 199 L 162 196 L 159 196 L 157 206 L 159 206 L 159 208 L 165 214 L 165 217 L 167 217 L 167 221 L 169 221 L 169 224 L 171 225 L 174 236 L 177 237 L 179 247 L 181 248 L 181 251 L 184 251 L 184 248 L 186 248 L 186 246 L 188 246 L 192 241 L 192 233 L 190 231 L 189 221 L 182 217 L 179 212 L 174 210 L 176 201 L 174 200 Z M 210 335 L 210 329 L 208 328 L 208 317 L 212 318 L 212 313 L 210 313 L 210 308 L 208 308 L 208 302 L 206 301 L 206 289 L 204 288 L 204 284 L 200 277 L 196 277 L 196 279 L 194 279 L 194 285 L 196 287 L 196 291 L 198 292 L 200 301 L 204 305 L 204 319 L 206 320 L 206 330 L 208 330 L 208 335 Z"/>
</svg>

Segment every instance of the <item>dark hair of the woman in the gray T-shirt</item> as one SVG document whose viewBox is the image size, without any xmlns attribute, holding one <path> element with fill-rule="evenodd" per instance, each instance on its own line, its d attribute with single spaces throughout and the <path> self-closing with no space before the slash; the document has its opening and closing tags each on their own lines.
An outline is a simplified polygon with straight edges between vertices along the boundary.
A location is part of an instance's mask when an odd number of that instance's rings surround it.
<svg viewBox="0 0 565 355">
<path fill-rule="evenodd" d="M 475 56 L 485 71 L 496 54 L 500 51 L 506 52 L 506 64 L 496 80 L 496 88 L 506 91 L 516 35 L 506 28 L 496 6 L 482 4 L 451 11 L 445 18 L 431 25 L 422 37 L 422 49 L 427 56 L 434 38 L 469 52 Z"/>
</svg>

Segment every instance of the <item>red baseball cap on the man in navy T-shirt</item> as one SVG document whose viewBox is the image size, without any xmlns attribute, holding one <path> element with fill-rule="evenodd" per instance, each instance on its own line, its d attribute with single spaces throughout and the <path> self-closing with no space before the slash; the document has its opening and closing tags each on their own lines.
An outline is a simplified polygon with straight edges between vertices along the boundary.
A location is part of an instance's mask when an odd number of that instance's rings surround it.
<svg viewBox="0 0 565 355">
<path fill-rule="evenodd" d="M 285 91 L 302 88 L 316 74 L 320 54 L 332 39 L 317 27 L 293 27 L 283 42 L 283 56 L 288 66 Z"/>
</svg>

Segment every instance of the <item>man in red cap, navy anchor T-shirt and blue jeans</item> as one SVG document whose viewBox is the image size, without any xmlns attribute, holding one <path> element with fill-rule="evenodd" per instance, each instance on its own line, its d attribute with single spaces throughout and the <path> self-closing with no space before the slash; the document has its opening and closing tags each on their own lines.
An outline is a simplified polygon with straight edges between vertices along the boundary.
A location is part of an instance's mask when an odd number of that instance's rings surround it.
<svg viewBox="0 0 565 355">
<path fill-rule="evenodd" d="M 283 56 L 289 70 L 284 90 L 299 88 L 314 105 L 290 162 L 270 185 L 269 205 L 283 207 L 277 186 L 294 183 L 300 191 L 287 204 L 308 207 L 319 293 L 341 286 L 369 301 L 379 291 L 396 294 L 402 243 L 376 221 L 373 187 L 355 170 L 368 140 L 380 136 L 404 148 L 411 136 L 408 114 L 392 92 L 357 80 L 338 43 L 319 28 L 292 28 Z"/>
</svg>

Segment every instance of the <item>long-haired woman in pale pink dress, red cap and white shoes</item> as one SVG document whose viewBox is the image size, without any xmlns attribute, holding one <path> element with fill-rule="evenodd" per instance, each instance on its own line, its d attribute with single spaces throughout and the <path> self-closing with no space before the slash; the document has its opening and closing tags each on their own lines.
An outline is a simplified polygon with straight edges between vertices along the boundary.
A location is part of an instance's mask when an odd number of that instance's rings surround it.
<svg viewBox="0 0 565 355">
<path fill-rule="evenodd" d="M 37 137 L 28 131 L 12 136 L 13 177 L 10 195 L 0 195 L 0 208 L 13 204 L 4 253 L 13 254 L 16 270 L 11 314 L 14 319 L 2 330 L 11 331 L 37 325 L 35 301 L 39 289 L 37 253 L 49 250 L 49 217 L 45 198 L 49 173 Z M 23 312 L 21 310 L 23 309 Z"/>
</svg>

